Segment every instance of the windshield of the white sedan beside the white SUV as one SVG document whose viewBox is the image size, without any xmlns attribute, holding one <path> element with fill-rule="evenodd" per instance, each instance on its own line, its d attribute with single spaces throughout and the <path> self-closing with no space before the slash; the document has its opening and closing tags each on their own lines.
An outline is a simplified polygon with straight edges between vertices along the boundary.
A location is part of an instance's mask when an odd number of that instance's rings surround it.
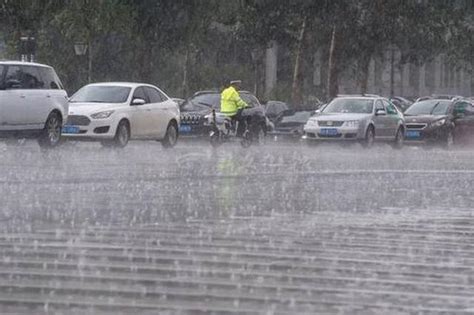
<svg viewBox="0 0 474 315">
<path fill-rule="evenodd" d="M 132 89 L 125 86 L 85 86 L 71 97 L 71 103 L 125 103 Z"/>
</svg>

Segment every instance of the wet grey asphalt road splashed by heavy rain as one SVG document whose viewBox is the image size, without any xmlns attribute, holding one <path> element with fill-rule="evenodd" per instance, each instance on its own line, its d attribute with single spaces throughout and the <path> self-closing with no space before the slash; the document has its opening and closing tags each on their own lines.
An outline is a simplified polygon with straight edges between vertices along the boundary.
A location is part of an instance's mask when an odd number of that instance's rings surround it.
<svg viewBox="0 0 474 315">
<path fill-rule="evenodd" d="M 0 313 L 474 313 L 474 149 L 0 143 Z"/>
</svg>

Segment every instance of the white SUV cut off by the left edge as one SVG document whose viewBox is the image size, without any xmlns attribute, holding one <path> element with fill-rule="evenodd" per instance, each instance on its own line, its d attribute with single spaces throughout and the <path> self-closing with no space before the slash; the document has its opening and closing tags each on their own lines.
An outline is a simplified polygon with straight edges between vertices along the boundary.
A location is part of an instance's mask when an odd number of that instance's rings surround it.
<svg viewBox="0 0 474 315">
<path fill-rule="evenodd" d="M 0 61 L 0 137 L 37 137 L 54 147 L 67 120 L 68 98 L 53 68 Z"/>
</svg>

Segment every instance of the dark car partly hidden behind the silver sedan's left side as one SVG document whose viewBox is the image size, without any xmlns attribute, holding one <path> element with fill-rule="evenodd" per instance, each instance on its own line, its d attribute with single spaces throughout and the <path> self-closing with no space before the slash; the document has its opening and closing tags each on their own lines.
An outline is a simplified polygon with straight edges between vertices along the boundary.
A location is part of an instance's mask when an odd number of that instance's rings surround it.
<svg viewBox="0 0 474 315">
<path fill-rule="evenodd" d="M 275 120 L 275 129 L 269 132 L 275 141 L 288 139 L 300 140 L 304 134 L 304 125 L 315 114 L 314 110 L 285 110 Z"/>
</svg>

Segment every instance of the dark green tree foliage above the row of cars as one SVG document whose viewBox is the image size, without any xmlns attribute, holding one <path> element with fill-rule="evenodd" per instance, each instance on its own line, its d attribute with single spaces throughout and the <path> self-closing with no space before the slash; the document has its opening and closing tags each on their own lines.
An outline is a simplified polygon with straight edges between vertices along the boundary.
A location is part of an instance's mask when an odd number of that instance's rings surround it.
<svg viewBox="0 0 474 315">
<path fill-rule="evenodd" d="M 74 43 L 91 45 L 94 81 L 157 84 L 176 96 L 219 88 L 229 78 L 253 89 L 262 52 L 278 41 L 295 61 L 302 22 L 303 76 L 313 55 L 328 58 L 332 29 L 338 30 L 337 71 L 356 65 L 364 80 L 367 60 L 395 46 L 402 62 L 423 63 L 444 53 L 453 63 L 472 64 L 473 7 L 469 1 L 415 0 L 0 0 L 0 27 L 10 58 L 19 37 L 37 39 L 37 59 L 54 65 L 70 92 L 87 81 L 87 57 Z M 464 4 L 464 5 L 463 5 Z M 327 62 L 326 62 L 327 63 Z M 257 68 L 258 69 L 258 68 Z M 257 73 L 263 76 L 262 71 Z M 279 98 L 291 94 L 293 65 L 280 66 Z M 304 94 L 320 97 L 311 81 Z M 319 91 L 319 92 L 318 92 Z"/>
</svg>

